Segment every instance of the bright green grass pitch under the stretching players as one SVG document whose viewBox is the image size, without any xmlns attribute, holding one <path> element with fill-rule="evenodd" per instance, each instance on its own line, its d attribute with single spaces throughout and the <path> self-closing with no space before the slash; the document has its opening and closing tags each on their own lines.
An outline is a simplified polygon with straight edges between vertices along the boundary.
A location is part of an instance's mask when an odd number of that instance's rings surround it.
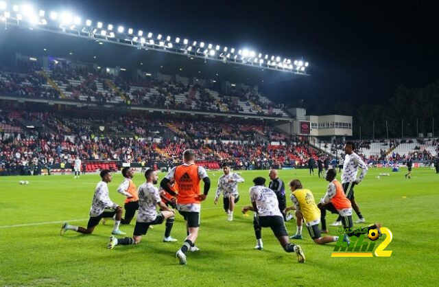
<svg viewBox="0 0 439 287">
<path fill-rule="evenodd" d="M 376 179 L 379 172 L 390 176 Z M 263 230 L 264 250 L 253 250 L 252 217 L 242 216 L 239 209 L 250 204 L 252 179 L 260 175 L 268 178 L 268 171 L 243 172 L 246 182 L 239 185 L 241 200 L 233 222 L 226 221 L 222 205 L 213 205 L 221 172 L 209 172 L 213 187 L 202 204 L 196 242 L 201 250 L 189 253 L 187 266 L 178 265 L 174 257 L 186 236 L 180 215 L 171 233 L 178 242 L 161 242 L 165 227 L 157 225 L 141 244 L 113 250 L 106 249 L 111 224 L 99 225 L 91 236 L 68 231 L 64 237 L 59 235 L 61 223 L 8 227 L 63 220 L 80 220 L 72 224 L 86 225 L 98 175 L 75 180 L 70 175 L 1 177 L 0 285 L 436 285 L 439 175 L 418 168 L 411 180 L 405 180 L 404 172 L 371 169 L 366 180 L 355 187 L 367 222 L 381 222 L 392 231 L 393 241 L 386 249 L 393 251 L 391 257 L 334 258 L 334 244 L 314 244 L 305 229 L 304 239 L 296 240 L 305 251 L 305 264 L 298 264 L 294 253 L 285 253 L 270 229 Z M 307 170 L 283 170 L 280 177 L 285 183 L 300 179 L 316 200 L 326 191 L 327 182 L 309 176 Z M 123 205 L 123 197 L 116 192 L 121 179 L 120 174 L 115 175 L 109 189 L 112 200 Z M 19 185 L 20 180 L 30 183 Z M 140 185 L 143 176 L 136 174 L 134 182 Z M 335 215 L 329 214 L 328 222 L 334 219 Z M 286 226 L 290 234 L 296 231 L 295 221 L 286 222 Z M 330 233 L 335 235 L 336 228 L 329 227 Z M 129 235 L 133 229 L 134 223 L 121 227 Z"/>
</svg>

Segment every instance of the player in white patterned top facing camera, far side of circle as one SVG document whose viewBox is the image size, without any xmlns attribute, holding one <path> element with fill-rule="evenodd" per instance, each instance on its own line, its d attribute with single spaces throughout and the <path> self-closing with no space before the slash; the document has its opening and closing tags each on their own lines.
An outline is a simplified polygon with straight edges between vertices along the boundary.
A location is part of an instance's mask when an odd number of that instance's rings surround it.
<svg viewBox="0 0 439 287">
<path fill-rule="evenodd" d="M 230 172 L 230 166 L 227 163 L 222 164 L 222 170 L 224 175 L 219 176 L 217 194 L 213 203 L 217 204 L 219 195 L 222 193 L 224 211 L 228 215 L 227 220 L 232 221 L 233 209 L 235 209 L 235 203 L 239 200 L 238 183 L 244 183 L 244 179 L 239 174 Z"/>
</svg>

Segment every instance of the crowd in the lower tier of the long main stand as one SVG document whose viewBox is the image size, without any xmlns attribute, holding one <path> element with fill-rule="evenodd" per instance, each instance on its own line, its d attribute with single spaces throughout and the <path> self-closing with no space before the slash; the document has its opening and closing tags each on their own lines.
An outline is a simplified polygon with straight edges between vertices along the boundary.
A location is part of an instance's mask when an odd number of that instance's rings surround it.
<svg viewBox="0 0 439 287">
<path fill-rule="evenodd" d="M 44 129 L 0 133 L 0 169 L 83 161 L 113 160 L 148 165 L 174 165 L 182 151 L 193 148 L 200 161 L 229 161 L 237 168 L 303 165 L 316 150 L 298 139 L 284 137 L 272 145 L 270 126 L 215 123 L 197 120 L 139 117 L 93 118 L 58 113 L 1 111 L 2 123 L 20 126 L 20 120 L 43 123 Z M 105 126 L 102 131 L 99 127 Z"/>
</svg>

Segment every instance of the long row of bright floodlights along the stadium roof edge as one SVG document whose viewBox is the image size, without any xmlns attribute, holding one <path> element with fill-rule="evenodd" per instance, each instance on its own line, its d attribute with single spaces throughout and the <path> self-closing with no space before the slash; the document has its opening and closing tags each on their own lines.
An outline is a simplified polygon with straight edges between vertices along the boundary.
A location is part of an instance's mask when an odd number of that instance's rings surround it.
<svg viewBox="0 0 439 287">
<path fill-rule="evenodd" d="M 147 38 L 143 36 L 143 30 L 135 30 L 130 27 L 125 29 L 123 26 L 112 25 L 112 23 L 102 23 L 93 21 L 67 11 L 50 11 L 36 9 L 33 5 L 25 3 L 17 5 L 11 1 L 0 0 L 0 24 L 5 29 L 8 25 L 14 25 L 32 30 L 41 30 L 88 38 L 102 43 L 114 43 L 116 45 L 126 45 L 137 49 L 161 51 L 165 53 L 177 54 L 191 58 L 201 58 L 204 61 L 215 60 L 224 63 L 233 63 L 259 69 L 269 69 L 283 71 L 296 75 L 309 76 L 307 68 L 309 62 L 302 59 L 292 61 L 290 58 L 281 56 L 262 57 L 262 53 L 249 50 L 248 48 L 235 49 L 222 47 L 221 45 L 205 44 L 203 41 L 190 41 L 179 36 L 163 36 L 148 32 Z M 117 29 L 113 29 L 117 27 Z M 155 38 L 155 41 L 154 41 Z M 184 39 L 181 41 L 181 39 Z M 237 51 L 237 52 L 236 52 Z"/>
</svg>

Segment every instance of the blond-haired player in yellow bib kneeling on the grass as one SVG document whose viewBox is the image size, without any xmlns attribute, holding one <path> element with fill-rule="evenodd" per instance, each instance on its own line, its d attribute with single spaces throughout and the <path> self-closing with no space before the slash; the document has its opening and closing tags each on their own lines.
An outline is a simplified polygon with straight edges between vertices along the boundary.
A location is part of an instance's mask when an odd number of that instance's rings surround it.
<svg viewBox="0 0 439 287">
<path fill-rule="evenodd" d="M 291 200 L 294 207 L 287 207 L 285 213 L 289 210 L 296 209 L 297 231 L 296 235 L 291 236 L 292 239 L 302 239 L 302 221 L 305 220 L 309 236 L 317 244 L 326 244 L 338 240 L 338 236 L 324 236 L 320 234 L 320 209 L 316 205 L 314 196 L 311 190 L 306 190 L 302 187 L 302 183 L 298 179 L 294 179 L 289 183 L 289 188 L 292 192 Z M 348 236 L 344 240 L 348 242 Z"/>
</svg>

